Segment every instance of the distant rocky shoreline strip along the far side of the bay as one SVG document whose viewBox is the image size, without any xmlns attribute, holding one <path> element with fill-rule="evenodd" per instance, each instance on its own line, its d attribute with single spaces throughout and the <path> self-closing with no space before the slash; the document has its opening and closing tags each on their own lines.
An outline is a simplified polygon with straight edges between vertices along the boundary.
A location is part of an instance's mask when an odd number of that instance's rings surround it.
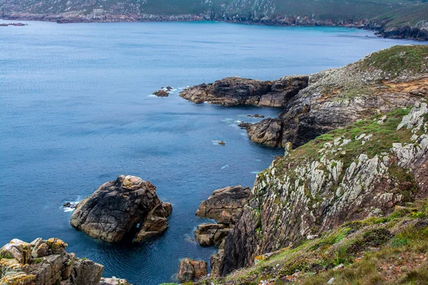
<svg viewBox="0 0 428 285">
<path fill-rule="evenodd" d="M 425 5 L 428 7 L 428 4 Z M 423 9 L 425 7 L 423 6 Z M 426 9 L 428 11 L 428 8 Z M 227 16 L 215 11 L 204 11 L 201 14 L 145 14 L 140 11 L 123 12 L 93 9 L 91 13 L 82 11 L 66 11 L 58 14 L 31 13 L 29 11 L 0 11 L 0 19 L 19 21 L 53 21 L 58 24 L 66 23 L 106 23 L 106 22 L 170 22 L 170 21 L 220 21 L 235 24 L 251 24 L 264 26 L 337 26 L 346 28 L 361 28 L 383 38 L 408 38 L 417 41 L 428 41 L 428 19 L 421 19 L 412 24 L 391 24 L 393 18 L 375 19 L 319 19 L 313 16 Z"/>
</svg>

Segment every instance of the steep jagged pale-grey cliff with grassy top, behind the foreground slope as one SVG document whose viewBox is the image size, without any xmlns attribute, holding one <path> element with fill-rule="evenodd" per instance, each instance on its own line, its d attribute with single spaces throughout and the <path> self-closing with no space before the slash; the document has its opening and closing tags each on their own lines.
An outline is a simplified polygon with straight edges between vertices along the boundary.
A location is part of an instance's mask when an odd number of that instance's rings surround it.
<svg viewBox="0 0 428 285">
<path fill-rule="evenodd" d="M 416 103 L 322 135 L 272 162 L 213 257 L 213 276 L 343 222 L 383 216 L 427 197 L 427 115 L 427 103 Z"/>
</svg>

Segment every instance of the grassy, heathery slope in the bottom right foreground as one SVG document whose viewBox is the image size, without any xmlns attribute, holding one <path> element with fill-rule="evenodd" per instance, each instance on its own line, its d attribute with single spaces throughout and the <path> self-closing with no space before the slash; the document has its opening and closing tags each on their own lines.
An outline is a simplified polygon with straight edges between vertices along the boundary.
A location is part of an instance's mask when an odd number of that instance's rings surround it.
<svg viewBox="0 0 428 285">
<path fill-rule="evenodd" d="M 235 271 L 220 283 L 258 284 L 274 279 L 282 284 L 280 280 L 287 279 L 312 285 L 334 278 L 333 284 L 427 284 L 428 220 L 421 215 L 428 214 L 428 202 L 409 206 L 396 207 L 387 217 L 344 224 L 269 258 L 256 258 L 257 264 Z"/>
</svg>

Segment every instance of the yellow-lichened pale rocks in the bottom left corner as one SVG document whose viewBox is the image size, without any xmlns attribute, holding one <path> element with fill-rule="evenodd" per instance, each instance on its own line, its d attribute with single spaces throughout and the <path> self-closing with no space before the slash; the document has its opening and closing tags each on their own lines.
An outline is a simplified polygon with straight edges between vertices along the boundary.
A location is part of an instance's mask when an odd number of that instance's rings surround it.
<svg viewBox="0 0 428 285">
<path fill-rule="evenodd" d="M 66 252 L 61 239 L 12 239 L 0 249 L 0 284 L 97 285 L 104 266 Z M 123 283 L 122 283 L 123 284 Z"/>
</svg>

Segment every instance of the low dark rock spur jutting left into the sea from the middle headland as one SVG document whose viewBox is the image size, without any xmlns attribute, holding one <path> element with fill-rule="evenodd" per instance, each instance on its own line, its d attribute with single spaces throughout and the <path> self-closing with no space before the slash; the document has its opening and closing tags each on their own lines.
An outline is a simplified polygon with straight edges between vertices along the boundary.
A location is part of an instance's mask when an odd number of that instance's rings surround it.
<svg viewBox="0 0 428 285">
<path fill-rule="evenodd" d="M 307 81 L 307 76 L 289 76 L 274 82 L 228 77 L 187 88 L 180 96 L 194 103 L 282 107 L 307 86 Z"/>
</svg>

